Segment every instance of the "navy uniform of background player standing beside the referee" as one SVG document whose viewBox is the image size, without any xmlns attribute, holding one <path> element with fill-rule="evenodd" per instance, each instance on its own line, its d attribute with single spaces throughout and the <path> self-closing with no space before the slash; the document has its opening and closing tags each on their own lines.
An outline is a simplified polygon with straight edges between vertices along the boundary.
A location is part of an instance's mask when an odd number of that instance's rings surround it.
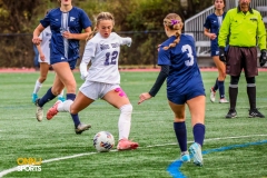
<svg viewBox="0 0 267 178">
<path fill-rule="evenodd" d="M 222 13 L 222 20 L 225 19 L 226 12 Z M 217 38 L 214 40 L 210 40 L 210 48 L 211 48 L 211 53 L 212 51 L 217 51 L 217 56 L 219 55 L 219 49 L 218 49 L 218 36 L 219 36 L 219 29 L 221 26 L 221 21 L 218 20 L 218 17 L 215 13 L 209 14 L 206 18 L 206 21 L 204 23 L 204 27 L 209 30 L 211 33 L 216 33 Z"/>
</svg>

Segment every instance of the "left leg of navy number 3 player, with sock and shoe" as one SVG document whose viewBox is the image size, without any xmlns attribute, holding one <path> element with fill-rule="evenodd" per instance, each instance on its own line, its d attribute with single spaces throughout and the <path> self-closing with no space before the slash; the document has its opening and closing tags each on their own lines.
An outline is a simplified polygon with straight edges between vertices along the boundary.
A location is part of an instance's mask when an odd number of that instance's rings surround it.
<svg viewBox="0 0 267 178">
<path fill-rule="evenodd" d="M 175 113 L 174 129 L 180 148 L 180 160 L 184 162 L 188 162 L 190 161 L 190 156 L 187 150 L 185 105 L 176 105 L 169 101 L 169 106 Z"/>
</svg>

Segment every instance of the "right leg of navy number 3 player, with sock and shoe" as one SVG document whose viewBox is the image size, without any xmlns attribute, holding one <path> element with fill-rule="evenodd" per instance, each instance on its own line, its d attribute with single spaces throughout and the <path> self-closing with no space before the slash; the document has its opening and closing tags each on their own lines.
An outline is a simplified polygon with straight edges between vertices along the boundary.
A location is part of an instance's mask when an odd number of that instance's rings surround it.
<svg viewBox="0 0 267 178">
<path fill-rule="evenodd" d="M 189 152 L 196 166 L 202 166 L 202 144 L 205 138 L 205 96 L 198 96 L 187 101 L 190 113 L 195 142 L 189 147 Z"/>
</svg>

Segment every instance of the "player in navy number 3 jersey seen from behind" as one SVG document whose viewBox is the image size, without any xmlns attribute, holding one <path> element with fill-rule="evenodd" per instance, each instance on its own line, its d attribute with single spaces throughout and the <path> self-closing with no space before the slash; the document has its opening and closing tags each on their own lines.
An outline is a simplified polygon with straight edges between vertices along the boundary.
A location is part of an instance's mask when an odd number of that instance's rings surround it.
<svg viewBox="0 0 267 178">
<path fill-rule="evenodd" d="M 165 32 L 169 37 L 159 46 L 159 76 L 149 92 L 139 97 L 141 103 L 157 95 L 167 78 L 167 97 L 175 113 L 174 129 L 181 151 L 181 161 L 190 161 L 202 166 L 201 147 L 205 137 L 205 89 L 196 59 L 195 40 L 191 36 L 181 34 L 181 18 L 169 13 L 164 19 Z M 195 142 L 187 150 L 186 103 L 191 113 Z"/>
</svg>

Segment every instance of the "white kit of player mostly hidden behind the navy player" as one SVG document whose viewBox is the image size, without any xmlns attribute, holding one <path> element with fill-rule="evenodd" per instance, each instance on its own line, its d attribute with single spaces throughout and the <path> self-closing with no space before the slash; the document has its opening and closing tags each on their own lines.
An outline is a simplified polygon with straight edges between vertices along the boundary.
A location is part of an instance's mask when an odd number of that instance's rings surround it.
<svg viewBox="0 0 267 178">
<path fill-rule="evenodd" d="M 42 53 L 46 57 L 46 60 L 42 61 L 40 58 L 40 53 L 39 53 L 39 62 L 47 62 L 48 65 L 50 65 L 50 40 L 51 40 L 51 29 L 50 26 L 48 26 L 39 36 L 39 38 L 41 39 L 41 50 Z"/>
</svg>

